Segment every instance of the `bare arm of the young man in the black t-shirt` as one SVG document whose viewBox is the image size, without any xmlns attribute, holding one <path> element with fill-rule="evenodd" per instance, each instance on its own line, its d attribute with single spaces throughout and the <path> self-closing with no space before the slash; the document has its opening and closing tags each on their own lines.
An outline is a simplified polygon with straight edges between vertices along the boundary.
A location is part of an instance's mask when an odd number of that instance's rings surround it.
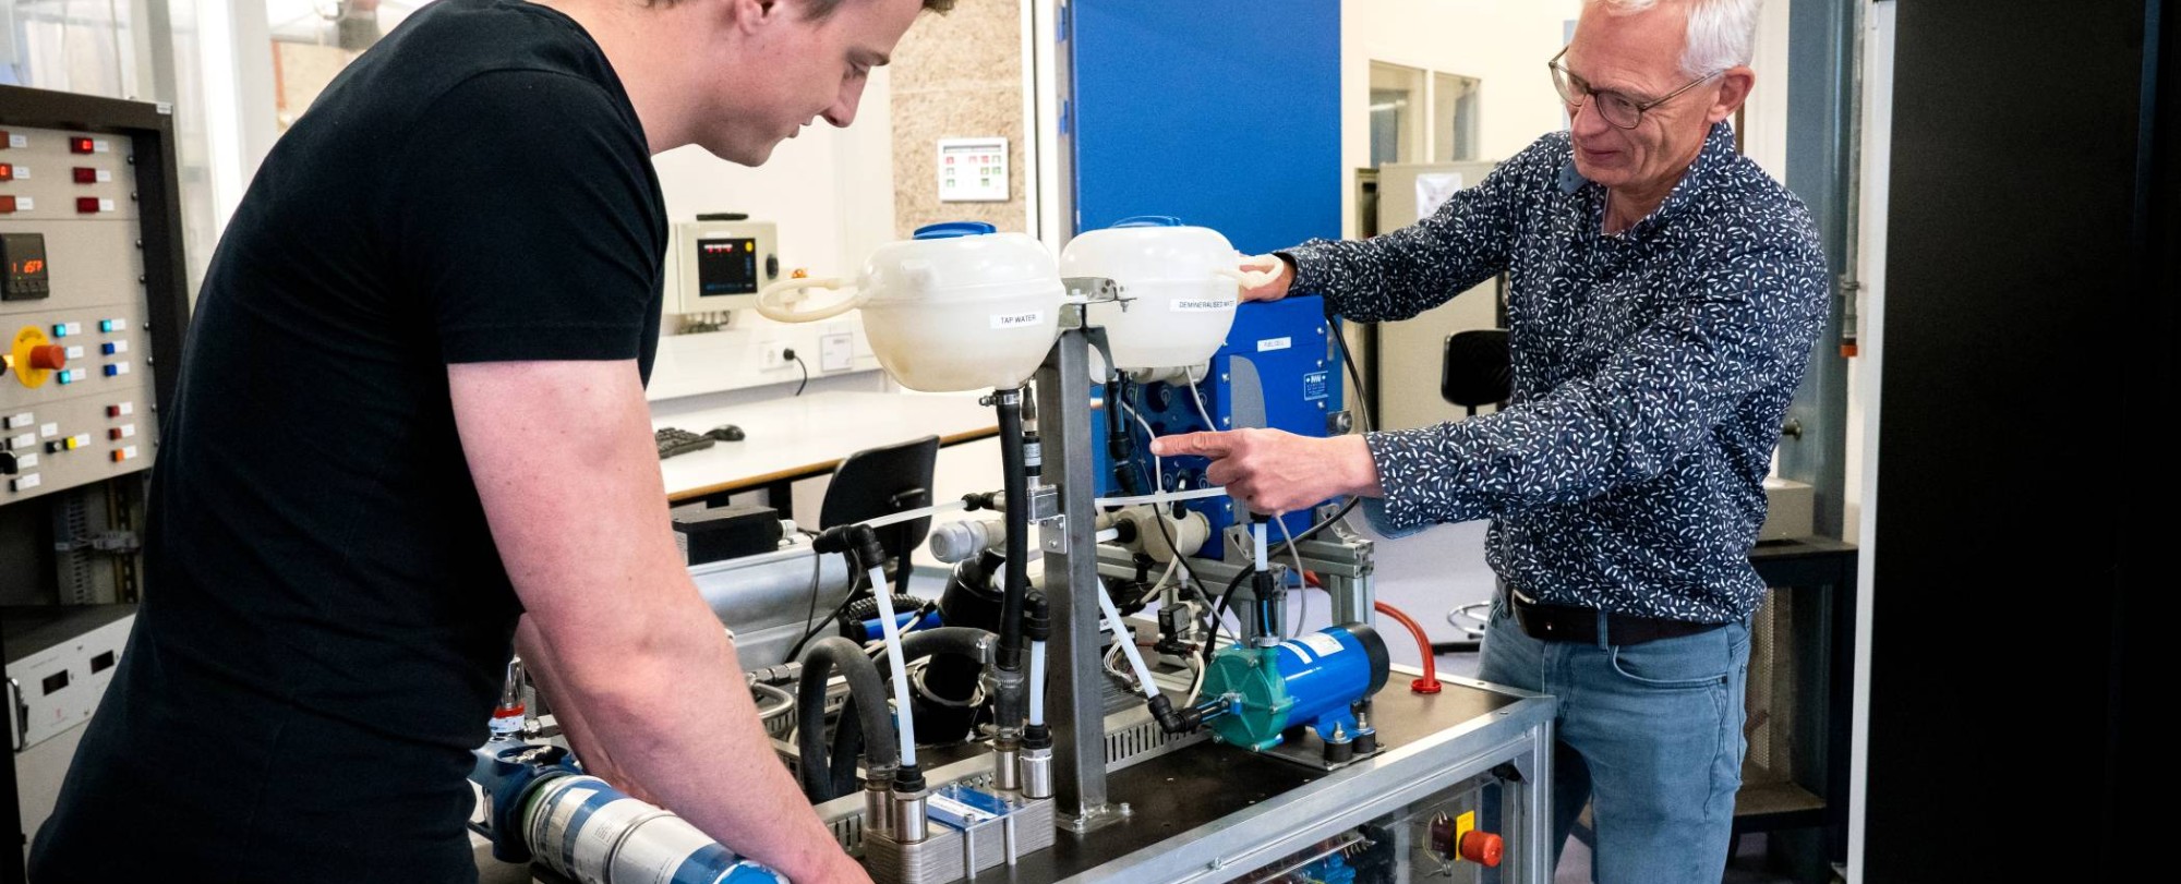
<svg viewBox="0 0 2181 884">
<path fill-rule="evenodd" d="M 818 821 L 674 549 L 632 361 L 447 368 L 456 429 L 554 690 L 626 777 L 796 882 L 866 882 Z"/>
</svg>

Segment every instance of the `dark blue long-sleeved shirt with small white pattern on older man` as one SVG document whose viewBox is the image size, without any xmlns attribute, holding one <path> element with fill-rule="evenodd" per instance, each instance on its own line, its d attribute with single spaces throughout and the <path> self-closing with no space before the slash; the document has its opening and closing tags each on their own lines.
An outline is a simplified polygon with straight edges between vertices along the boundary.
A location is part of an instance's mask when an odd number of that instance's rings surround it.
<svg viewBox="0 0 2181 884">
<path fill-rule="evenodd" d="M 1603 233 L 1605 187 L 1553 133 L 1431 218 L 1287 255 L 1296 290 L 1400 320 L 1507 272 L 1501 412 L 1370 433 L 1389 527 L 1490 518 L 1525 594 L 1675 621 L 1764 601 L 1764 475 L 1828 307 L 1802 200 L 1712 126 L 1666 202 Z"/>
</svg>

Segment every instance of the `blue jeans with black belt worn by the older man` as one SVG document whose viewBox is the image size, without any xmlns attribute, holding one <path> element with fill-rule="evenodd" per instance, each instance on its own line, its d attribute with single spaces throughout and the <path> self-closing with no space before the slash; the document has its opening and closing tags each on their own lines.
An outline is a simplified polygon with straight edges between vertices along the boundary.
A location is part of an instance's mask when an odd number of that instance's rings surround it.
<svg viewBox="0 0 2181 884">
<path fill-rule="evenodd" d="M 1749 625 L 1644 644 L 1531 638 L 1492 605 L 1477 677 L 1559 699 L 1553 864 L 1590 801 L 1599 884 L 1716 882 L 1743 784 Z"/>
</svg>

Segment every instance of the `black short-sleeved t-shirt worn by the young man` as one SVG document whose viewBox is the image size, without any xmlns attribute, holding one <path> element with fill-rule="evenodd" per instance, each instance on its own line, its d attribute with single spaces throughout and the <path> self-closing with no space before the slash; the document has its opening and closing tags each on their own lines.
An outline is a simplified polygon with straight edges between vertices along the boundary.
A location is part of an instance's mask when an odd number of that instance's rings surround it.
<svg viewBox="0 0 2181 884">
<path fill-rule="evenodd" d="M 325 89 L 207 272 L 144 603 L 35 882 L 473 877 L 465 775 L 521 607 L 447 364 L 648 375 L 665 229 L 637 113 L 556 11 L 434 2 Z"/>
</svg>

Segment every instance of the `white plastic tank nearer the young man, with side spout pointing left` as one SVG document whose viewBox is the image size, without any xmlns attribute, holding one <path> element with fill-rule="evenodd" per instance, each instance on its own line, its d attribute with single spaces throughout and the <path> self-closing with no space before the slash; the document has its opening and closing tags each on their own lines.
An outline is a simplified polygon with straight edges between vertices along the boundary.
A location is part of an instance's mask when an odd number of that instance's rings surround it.
<svg viewBox="0 0 2181 884">
<path fill-rule="evenodd" d="M 783 279 L 759 292 L 757 311 L 779 322 L 816 322 L 859 307 L 879 366 L 923 392 L 1029 381 L 1060 335 L 1067 294 L 1045 244 L 1027 233 L 997 233 L 986 222 L 920 226 L 912 240 L 870 253 L 846 300 L 798 309 L 811 287 L 842 287 L 842 281 Z"/>
</svg>

